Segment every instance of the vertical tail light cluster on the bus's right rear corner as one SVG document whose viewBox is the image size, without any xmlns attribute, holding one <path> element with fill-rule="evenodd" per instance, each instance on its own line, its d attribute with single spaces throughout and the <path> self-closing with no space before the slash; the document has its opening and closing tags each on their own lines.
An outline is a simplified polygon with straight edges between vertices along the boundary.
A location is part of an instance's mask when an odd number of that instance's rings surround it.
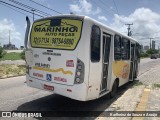
<svg viewBox="0 0 160 120">
<path fill-rule="evenodd" d="M 84 63 L 80 59 L 78 59 L 74 84 L 81 84 L 83 82 L 84 82 Z"/>
</svg>

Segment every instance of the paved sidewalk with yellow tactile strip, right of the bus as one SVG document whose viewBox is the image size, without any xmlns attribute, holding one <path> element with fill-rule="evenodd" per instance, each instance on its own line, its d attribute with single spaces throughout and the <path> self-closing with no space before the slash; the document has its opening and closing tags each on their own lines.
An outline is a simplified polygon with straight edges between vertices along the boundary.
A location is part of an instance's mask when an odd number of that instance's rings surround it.
<svg viewBox="0 0 160 120">
<path fill-rule="evenodd" d="M 142 85 L 133 85 L 105 111 L 160 111 L 160 64 L 139 76 Z M 96 120 L 160 120 L 160 117 L 106 117 L 105 112 Z"/>
</svg>

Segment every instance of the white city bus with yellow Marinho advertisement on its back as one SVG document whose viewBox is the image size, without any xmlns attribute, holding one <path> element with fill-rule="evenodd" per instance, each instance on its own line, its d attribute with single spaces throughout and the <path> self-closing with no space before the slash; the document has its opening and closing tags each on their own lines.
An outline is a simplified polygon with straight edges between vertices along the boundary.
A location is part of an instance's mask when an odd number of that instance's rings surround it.
<svg viewBox="0 0 160 120">
<path fill-rule="evenodd" d="M 88 101 L 138 75 L 140 45 L 131 37 L 87 16 L 27 17 L 26 81 L 75 100 Z"/>
</svg>

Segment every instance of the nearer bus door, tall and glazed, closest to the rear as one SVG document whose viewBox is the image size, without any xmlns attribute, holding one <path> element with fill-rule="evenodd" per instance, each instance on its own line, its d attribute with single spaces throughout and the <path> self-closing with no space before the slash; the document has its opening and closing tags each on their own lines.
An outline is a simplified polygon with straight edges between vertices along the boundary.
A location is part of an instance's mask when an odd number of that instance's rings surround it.
<svg viewBox="0 0 160 120">
<path fill-rule="evenodd" d="M 103 33 L 102 44 L 103 44 L 102 45 L 103 46 L 102 48 L 102 78 L 101 78 L 100 94 L 103 94 L 107 91 L 111 35 Z"/>
</svg>

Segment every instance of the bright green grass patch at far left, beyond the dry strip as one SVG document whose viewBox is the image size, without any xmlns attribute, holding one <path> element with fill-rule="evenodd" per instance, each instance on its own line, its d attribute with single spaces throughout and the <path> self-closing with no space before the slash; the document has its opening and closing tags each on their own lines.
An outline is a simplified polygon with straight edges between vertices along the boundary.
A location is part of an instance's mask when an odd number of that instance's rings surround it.
<svg viewBox="0 0 160 120">
<path fill-rule="evenodd" d="M 16 52 L 6 53 L 0 60 L 21 60 L 20 54 Z"/>
</svg>

